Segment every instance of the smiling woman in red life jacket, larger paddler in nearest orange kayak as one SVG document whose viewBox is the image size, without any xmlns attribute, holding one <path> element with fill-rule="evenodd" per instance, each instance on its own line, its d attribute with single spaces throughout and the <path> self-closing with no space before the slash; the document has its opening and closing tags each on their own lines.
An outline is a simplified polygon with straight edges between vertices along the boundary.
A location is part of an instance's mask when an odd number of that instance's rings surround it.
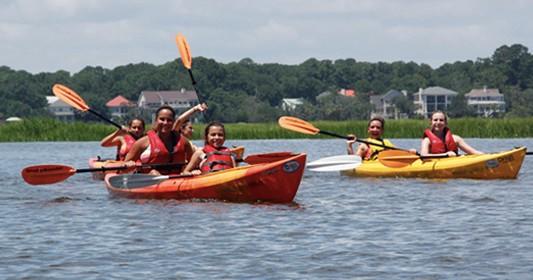
<svg viewBox="0 0 533 280">
<path fill-rule="evenodd" d="M 207 109 L 205 104 L 199 104 L 181 114 L 175 119 L 174 109 L 163 105 L 156 111 L 153 128 L 146 136 L 133 144 L 126 155 L 126 165 L 134 167 L 137 161 L 144 164 L 175 164 L 154 168 L 149 171 L 152 175 L 179 174 L 183 165 L 190 160 L 193 151 L 191 143 L 175 128 L 195 112 Z"/>
</svg>

